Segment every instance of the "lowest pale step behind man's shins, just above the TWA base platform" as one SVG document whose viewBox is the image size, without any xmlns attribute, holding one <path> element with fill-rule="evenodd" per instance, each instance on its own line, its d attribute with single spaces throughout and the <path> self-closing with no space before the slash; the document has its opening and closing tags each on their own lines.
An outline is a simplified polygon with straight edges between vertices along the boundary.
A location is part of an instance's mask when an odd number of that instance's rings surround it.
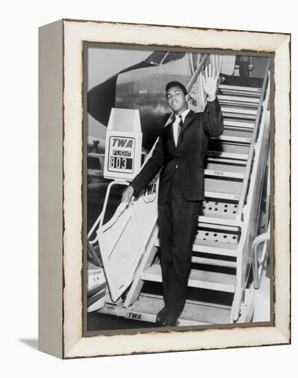
<svg viewBox="0 0 298 378">
<path fill-rule="evenodd" d="M 141 279 L 161 282 L 161 266 L 159 264 L 152 265 L 141 274 Z M 192 269 L 188 286 L 233 293 L 236 286 L 236 276 L 234 274 Z"/>
</svg>

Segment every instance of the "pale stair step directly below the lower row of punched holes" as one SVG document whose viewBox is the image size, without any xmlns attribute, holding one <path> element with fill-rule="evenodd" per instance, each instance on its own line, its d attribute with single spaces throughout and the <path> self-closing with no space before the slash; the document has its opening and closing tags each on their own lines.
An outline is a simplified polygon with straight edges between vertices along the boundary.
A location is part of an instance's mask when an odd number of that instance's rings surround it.
<svg viewBox="0 0 298 378">
<path fill-rule="evenodd" d="M 155 241 L 154 245 L 155 247 L 160 247 L 159 238 Z M 220 241 L 207 241 L 207 240 L 202 240 L 198 238 L 194 239 L 192 250 L 194 252 L 204 252 L 207 254 L 217 254 L 221 256 L 231 256 L 231 257 L 237 256 L 236 254 L 237 244 L 221 243 Z M 193 261 L 193 263 L 194 262 L 197 262 L 197 261 Z"/>
</svg>

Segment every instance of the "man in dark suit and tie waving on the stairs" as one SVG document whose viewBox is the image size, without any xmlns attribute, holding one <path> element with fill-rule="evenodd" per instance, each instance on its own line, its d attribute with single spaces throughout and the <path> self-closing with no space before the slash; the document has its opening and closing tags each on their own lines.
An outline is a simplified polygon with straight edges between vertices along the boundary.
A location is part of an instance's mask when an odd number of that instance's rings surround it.
<svg viewBox="0 0 298 378">
<path fill-rule="evenodd" d="M 184 85 L 175 81 L 166 85 L 166 98 L 173 111 L 171 122 L 161 131 L 152 157 L 122 194 L 122 201 L 126 202 L 133 195 L 137 197 L 162 168 L 158 216 L 165 307 L 157 314 L 157 323 L 164 326 L 176 326 L 185 305 L 192 243 L 200 202 L 204 199 L 208 141 L 223 131 L 217 82 L 218 74 L 215 69 L 211 72 L 209 65 L 203 76 L 207 109 L 202 113 L 188 109 Z"/>
</svg>

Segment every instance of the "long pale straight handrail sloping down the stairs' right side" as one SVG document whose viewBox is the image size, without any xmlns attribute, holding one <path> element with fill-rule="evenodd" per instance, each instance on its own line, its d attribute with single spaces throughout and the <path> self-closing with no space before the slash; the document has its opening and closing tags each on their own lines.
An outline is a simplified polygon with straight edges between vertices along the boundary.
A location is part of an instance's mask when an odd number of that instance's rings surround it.
<svg viewBox="0 0 298 378">
<path fill-rule="evenodd" d="M 264 96 L 265 96 L 265 91 L 266 91 L 266 86 L 268 83 L 268 78 L 269 78 L 269 67 L 270 67 L 270 59 L 268 59 L 268 63 L 266 65 L 266 70 L 265 70 L 265 76 L 264 76 L 264 81 L 262 85 L 262 91 L 261 91 L 261 96 L 260 96 L 260 102 L 259 106 L 257 107 L 257 117 L 255 118 L 255 127 L 253 129 L 253 136 L 251 137 L 251 147 L 249 149 L 249 156 L 247 158 L 247 166 L 244 171 L 244 179 L 242 183 L 242 190 L 240 194 L 240 199 L 238 202 L 238 210 L 236 214 L 236 221 L 238 225 L 242 225 L 242 211 L 244 207 L 244 201 L 247 197 L 247 190 L 249 187 L 249 177 L 251 175 L 251 163 L 253 162 L 253 153 L 255 150 L 255 141 L 257 139 L 257 132 L 260 127 L 260 121 L 261 121 L 261 114 L 262 114 L 262 107 L 263 107 L 263 101 L 264 101 Z"/>
</svg>

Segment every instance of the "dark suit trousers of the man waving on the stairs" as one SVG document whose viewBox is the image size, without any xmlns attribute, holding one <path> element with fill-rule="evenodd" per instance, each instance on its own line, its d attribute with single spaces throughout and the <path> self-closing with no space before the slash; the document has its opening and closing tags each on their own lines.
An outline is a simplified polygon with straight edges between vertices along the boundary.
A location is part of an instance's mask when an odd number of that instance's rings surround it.
<svg viewBox="0 0 298 378">
<path fill-rule="evenodd" d="M 168 202 L 159 204 L 163 300 L 177 317 L 185 305 L 199 208 L 200 201 L 187 201 L 174 183 Z"/>
</svg>

